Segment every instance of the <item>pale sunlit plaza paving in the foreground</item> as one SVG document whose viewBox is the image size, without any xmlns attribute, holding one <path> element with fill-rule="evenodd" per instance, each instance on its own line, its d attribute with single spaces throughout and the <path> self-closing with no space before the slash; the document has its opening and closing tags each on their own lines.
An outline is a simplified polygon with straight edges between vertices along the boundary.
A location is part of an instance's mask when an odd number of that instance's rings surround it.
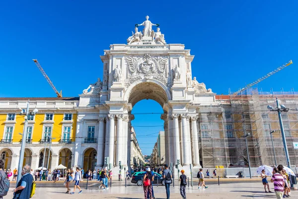
<svg viewBox="0 0 298 199">
<path fill-rule="evenodd" d="M 116 183 L 116 182 L 115 182 Z M 45 184 L 45 183 L 42 183 Z M 99 189 L 88 189 L 86 190 L 85 187 L 82 186 L 82 194 L 78 194 L 78 190 L 74 195 L 65 194 L 66 188 L 63 187 L 62 183 L 55 183 L 55 188 L 49 187 L 40 187 L 37 184 L 37 189 L 33 199 L 53 199 L 53 198 L 64 198 L 64 199 L 144 199 L 144 192 L 142 187 L 138 186 L 113 186 L 108 190 L 99 190 Z M 46 183 L 52 184 L 53 183 Z M 95 182 L 94 182 L 95 184 Z M 197 183 L 195 183 L 197 184 Z M 187 187 L 186 188 L 186 195 L 187 199 L 274 199 L 274 193 L 265 193 L 264 187 L 262 182 L 225 182 L 222 183 L 220 186 L 215 183 L 208 184 L 206 183 L 209 188 L 206 190 L 198 190 L 197 186 Z M 14 185 L 14 184 L 11 184 Z M 116 185 L 116 184 L 115 184 Z M 170 198 L 171 199 L 181 199 L 179 192 L 178 184 L 175 187 L 170 187 Z M 273 188 L 273 184 L 269 183 L 270 188 Z M 59 187 L 58 187 L 59 186 Z M 92 185 L 91 185 L 92 186 Z M 74 184 L 71 184 L 71 189 L 73 190 Z M 88 186 L 89 187 L 89 186 Z M 12 190 L 13 186 L 9 189 L 9 193 L 4 198 L 12 198 Z M 273 191 L 273 189 L 272 189 Z M 154 195 L 156 199 L 165 199 L 165 188 L 164 186 L 154 186 Z M 298 191 L 292 191 L 291 193 L 292 199 L 298 198 Z"/>
</svg>

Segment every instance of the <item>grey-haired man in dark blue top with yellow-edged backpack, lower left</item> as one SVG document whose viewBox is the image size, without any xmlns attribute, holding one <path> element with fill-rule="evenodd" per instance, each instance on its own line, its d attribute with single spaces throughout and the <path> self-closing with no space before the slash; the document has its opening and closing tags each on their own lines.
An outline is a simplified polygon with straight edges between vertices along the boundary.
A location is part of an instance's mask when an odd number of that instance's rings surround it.
<svg viewBox="0 0 298 199">
<path fill-rule="evenodd" d="M 32 184 L 34 182 L 33 176 L 30 175 L 30 166 L 25 165 L 22 170 L 22 178 L 17 183 L 14 190 L 13 199 L 29 199 L 31 196 Z"/>
</svg>

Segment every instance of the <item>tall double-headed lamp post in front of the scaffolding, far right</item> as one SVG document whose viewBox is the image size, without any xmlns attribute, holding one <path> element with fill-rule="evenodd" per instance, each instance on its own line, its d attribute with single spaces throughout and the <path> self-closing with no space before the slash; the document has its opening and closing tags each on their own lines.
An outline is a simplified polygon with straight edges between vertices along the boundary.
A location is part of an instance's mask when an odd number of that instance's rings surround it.
<svg viewBox="0 0 298 199">
<path fill-rule="evenodd" d="M 289 151 L 288 151 L 287 140 L 286 140 L 286 135 L 285 135 L 285 130 L 284 130 L 284 124 L 283 124 L 283 119 L 282 119 L 282 113 L 281 113 L 281 112 L 288 112 L 289 111 L 289 108 L 287 108 L 283 104 L 280 105 L 277 98 L 276 98 L 276 105 L 277 105 L 277 108 L 273 108 L 271 105 L 268 105 L 267 108 L 270 111 L 277 111 L 278 112 L 278 117 L 279 117 L 279 122 L 280 122 L 280 126 L 281 126 L 282 137 L 283 137 L 283 143 L 284 143 L 284 148 L 285 148 L 285 153 L 286 153 L 286 158 L 287 158 L 287 166 L 289 168 L 291 168 Z"/>
</svg>

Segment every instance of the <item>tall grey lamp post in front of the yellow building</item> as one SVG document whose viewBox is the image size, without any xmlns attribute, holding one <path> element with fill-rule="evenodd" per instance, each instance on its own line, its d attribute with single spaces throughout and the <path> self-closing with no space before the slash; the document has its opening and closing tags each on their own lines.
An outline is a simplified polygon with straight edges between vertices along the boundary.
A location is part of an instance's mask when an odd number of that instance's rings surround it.
<svg viewBox="0 0 298 199">
<path fill-rule="evenodd" d="M 20 112 L 21 115 L 25 114 L 25 123 L 24 123 L 24 129 L 23 129 L 23 136 L 22 136 L 22 144 L 21 144 L 21 150 L 20 150 L 20 159 L 19 159 L 19 164 L 18 164 L 18 173 L 17 173 L 17 177 L 16 177 L 16 186 L 18 184 L 18 182 L 21 179 L 21 175 L 22 175 L 22 167 L 23 167 L 23 161 L 24 161 L 24 154 L 25 154 L 25 145 L 26 145 L 26 139 L 27 139 L 27 127 L 28 127 L 28 115 L 35 115 L 35 113 L 38 112 L 38 109 L 35 108 L 32 112 L 29 112 L 29 100 L 27 102 L 27 107 L 26 110 L 22 109 L 22 111 Z"/>
</svg>

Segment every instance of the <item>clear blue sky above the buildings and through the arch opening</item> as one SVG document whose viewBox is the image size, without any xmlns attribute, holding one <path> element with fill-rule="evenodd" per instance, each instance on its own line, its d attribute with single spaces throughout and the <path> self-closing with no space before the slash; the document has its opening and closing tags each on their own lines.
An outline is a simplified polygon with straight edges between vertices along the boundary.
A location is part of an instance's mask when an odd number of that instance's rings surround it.
<svg viewBox="0 0 298 199">
<path fill-rule="evenodd" d="M 191 49 L 193 76 L 215 93 L 236 91 L 290 59 L 293 65 L 258 88 L 298 90 L 297 10 L 295 0 L 1 1 L 0 97 L 56 96 L 32 59 L 39 60 L 65 97 L 81 94 L 102 78 L 103 50 L 125 43 L 146 15 L 160 24 L 167 43 Z M 146 110 L 144 104 L 154 108 Z M 162 111 L 157 103 L 145 100 L 133 112 L 151 109 Z M 146 119 L 147 125 L 163 124 L 160 115 L 155 116 Z M 134 125 L 141 122 L 137 118 Z M 143 130 L 137 129 L 137 135 L 146 135 Z M 151 145 L 141 144 L 146 154 L 156 137 L 150 138 Z M 142 139 L 140 143 L 149 142 Z"/>
</svg>

